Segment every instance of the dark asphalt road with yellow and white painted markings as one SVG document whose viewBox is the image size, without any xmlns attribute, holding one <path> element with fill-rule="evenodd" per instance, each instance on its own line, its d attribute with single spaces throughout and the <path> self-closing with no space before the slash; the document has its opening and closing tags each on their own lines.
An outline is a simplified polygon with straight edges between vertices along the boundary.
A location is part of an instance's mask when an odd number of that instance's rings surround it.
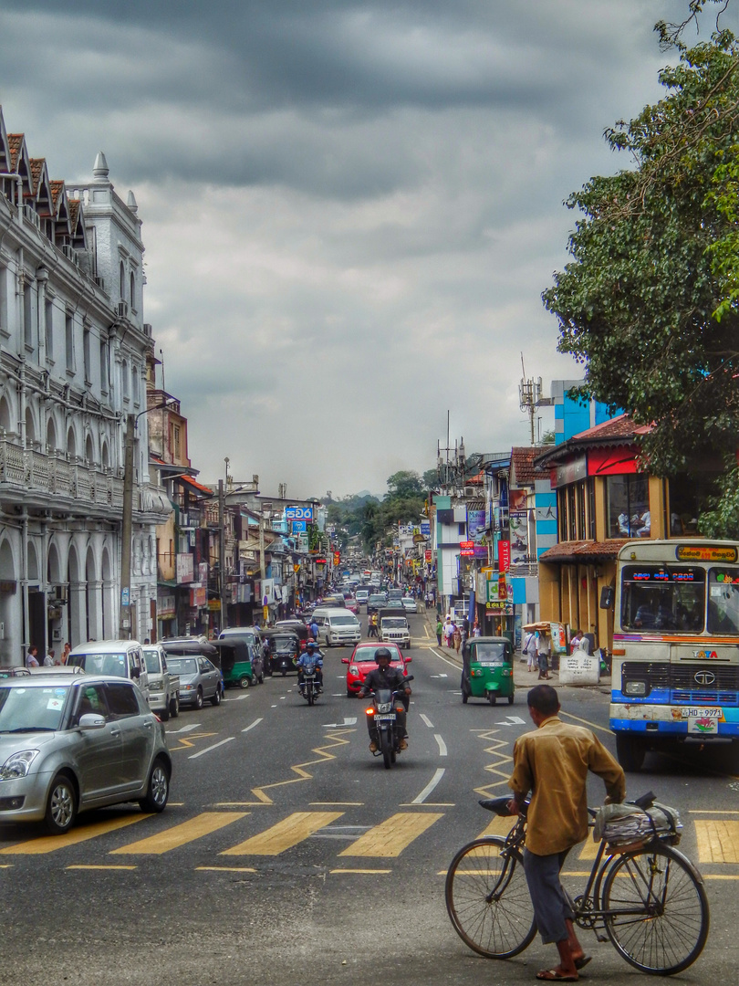
<svg viewBox="0 0 739 986">
<path fill-rule="evenodd" d="M 531 982 L 553 964 L 538 941 L 507 962 L 479 958 L 446 916 L 445 869 L 494 821 L 478 799 L 507 791 L 513 740 L 530 723 L 523 690 L 513 706 L 463 706 L 458 667 L 427 646 L 425 617 L 411 620 L 411 739 L 391 771 L 369 752 L 364 703 L 346 696 L 350 652 L 334 649 L 313 708 L 289 675 L 170 720 L 175 771 L 162 815 L 101 810 L 56 839 L 0 830 L 5 986 L 477 986 Z M 528 684 L 525 669 L 516 676 Z M 561 699 L 566 718 L 613 749 L 606 688 L 563 688 Z M 685 982 L 733 979 L 739 960 L 736 771 L 723 748 L 652 756 L 629 778 L 631 795 L 651 789 L 681 810 L 680 848 L 705 875 L 711 933 Z M 602 796 L 594 779 L 591 804 Z M 588 868 L 579 853 L 566 872 Z M 594 955 L 589 979 L 638 976 L 610 944 L 582 940 Z"/>
</svg>

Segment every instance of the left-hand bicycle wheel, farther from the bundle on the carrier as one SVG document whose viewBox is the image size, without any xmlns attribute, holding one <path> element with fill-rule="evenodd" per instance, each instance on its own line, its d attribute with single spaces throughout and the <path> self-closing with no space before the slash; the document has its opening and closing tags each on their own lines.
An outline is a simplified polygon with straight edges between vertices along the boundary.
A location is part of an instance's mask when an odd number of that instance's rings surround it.
<svg viewBox="0 0 739 986">
<path fill-rule="evenodd" d="M 523 859 L 498 835 L 475 839 L 451 861 L 444 898 L 457 935 L 486 958 L 511 958 L 536 935 Z"/>
</svg>

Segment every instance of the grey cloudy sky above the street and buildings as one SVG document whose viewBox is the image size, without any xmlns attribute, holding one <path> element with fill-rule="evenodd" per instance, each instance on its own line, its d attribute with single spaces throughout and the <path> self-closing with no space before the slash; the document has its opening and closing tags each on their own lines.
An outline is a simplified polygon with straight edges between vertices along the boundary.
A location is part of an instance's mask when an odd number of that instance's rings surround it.
<svg viewBox="0 0 739 986">
<path fill-rule="evenodd" d="M 134 190 L 201 478 L 380 492 L 447 409 L 468 451 L 527 444 L 521 353 L 579 376 L 540 299 L 563 200 L 628 167 L 603 130 L 660 98 L 687 2 L 4 0 L 0 101 L 52 177 L 103 150 Z"/>
</svg>

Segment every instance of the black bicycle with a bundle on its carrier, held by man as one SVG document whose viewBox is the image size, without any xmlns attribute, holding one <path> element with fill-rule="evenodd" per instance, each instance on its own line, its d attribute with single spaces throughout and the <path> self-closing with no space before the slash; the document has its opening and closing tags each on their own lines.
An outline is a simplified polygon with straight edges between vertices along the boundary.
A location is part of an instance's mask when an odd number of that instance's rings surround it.
<svg viewBox="0 0 739 986">
<path fill-rule="evenodd" d="M 649 793 L 634 804 L 651 807 Z M 507 798 L 481 801 L 507 815 Z M 446 909 L 462 941 L 486 958 L 512 958 L 536 935 L 533 906 L 523 872 L 522 849 L 528 802 L 507 836 L 482 836 L 463 846 L 446 874 Z M 588 809 L 590 824 L 595 811 Z M 603 839 L 584 890 L 566 890 L 578 928 L 616 951 L 641 972 L 674 975 L 698 958 L 708 935 L 703 878 L 674 848 L 676 831 L 622 848 Z M 673 843 L 673 844 L 670 844 Z M 605 930 L 607 938 L 601 932 Z"/>
</svg>

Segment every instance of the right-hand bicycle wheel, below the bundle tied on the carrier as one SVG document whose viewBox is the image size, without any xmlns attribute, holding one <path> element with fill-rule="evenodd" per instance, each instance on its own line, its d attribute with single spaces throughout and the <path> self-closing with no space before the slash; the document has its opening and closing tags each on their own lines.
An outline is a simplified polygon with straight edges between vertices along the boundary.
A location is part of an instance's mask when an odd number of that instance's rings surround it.
<svg viewBox="0 0 739 986">
<path fill-rule="evenodd" d="M 611 865 L 603 883 L 608 937 L 641 972 L 670 976 L 687 969 L 708 936 L 708 899 L 690 862 L 657 843 Z"/>
</svg>

